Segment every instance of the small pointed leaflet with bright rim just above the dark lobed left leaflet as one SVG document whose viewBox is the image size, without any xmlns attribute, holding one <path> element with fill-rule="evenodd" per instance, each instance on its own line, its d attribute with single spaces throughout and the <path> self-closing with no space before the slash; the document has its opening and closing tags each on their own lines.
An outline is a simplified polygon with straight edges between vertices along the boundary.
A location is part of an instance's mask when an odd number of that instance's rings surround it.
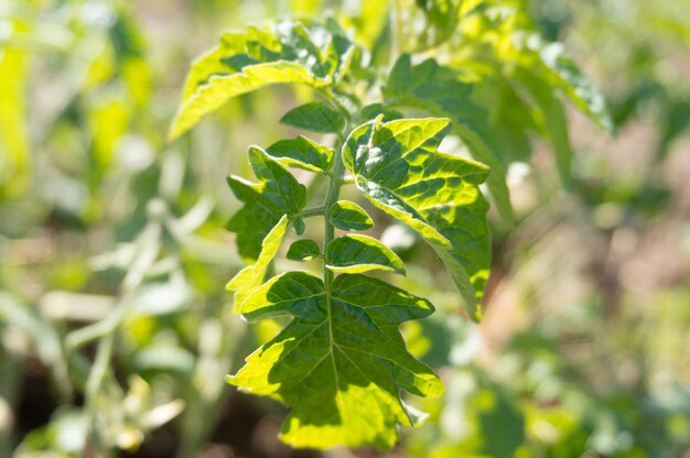
<svg viewBox="0 0 690 458">
<path fill-rule="evenodd" d="M 279 140 L 266 152 L 288 167 L 323 173 L 331 168 L 333 150 L 323 146 L 306 137 Z"/>
</svg>

